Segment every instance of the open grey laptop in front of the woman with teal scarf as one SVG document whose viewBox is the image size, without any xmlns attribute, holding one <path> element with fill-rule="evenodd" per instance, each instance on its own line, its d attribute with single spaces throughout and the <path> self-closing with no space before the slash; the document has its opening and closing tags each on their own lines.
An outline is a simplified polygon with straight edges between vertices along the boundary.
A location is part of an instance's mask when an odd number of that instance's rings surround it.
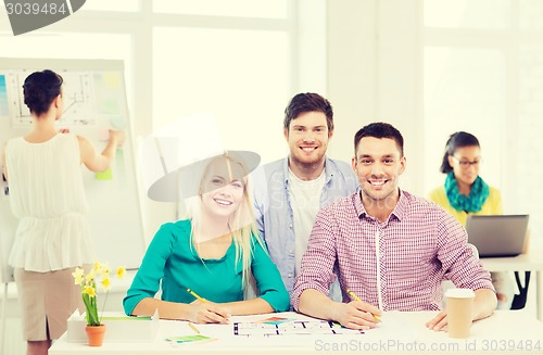
<svg viewBox="0 0 543 355">
<path fill-rule="evenodd" d="M 517 256 L 525 248 L 529 215 L 469 215 L 468 242 L 479 257 Z"/>
</svg>

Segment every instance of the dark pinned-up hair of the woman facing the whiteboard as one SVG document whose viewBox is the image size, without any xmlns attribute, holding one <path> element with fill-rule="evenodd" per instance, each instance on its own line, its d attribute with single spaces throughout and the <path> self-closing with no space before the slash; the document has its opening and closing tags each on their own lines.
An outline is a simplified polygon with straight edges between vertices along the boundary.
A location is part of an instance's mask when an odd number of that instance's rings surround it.
<svg viewBox="0 0 543 355">
<path fill-rule="evenodd" d="M 62 76 L 49 69 L 28 75 L 23 93 L 30 113 L 39 116 L 48 112 L 54 98 L 61 93 L 62 83 Z"/>
</svg>

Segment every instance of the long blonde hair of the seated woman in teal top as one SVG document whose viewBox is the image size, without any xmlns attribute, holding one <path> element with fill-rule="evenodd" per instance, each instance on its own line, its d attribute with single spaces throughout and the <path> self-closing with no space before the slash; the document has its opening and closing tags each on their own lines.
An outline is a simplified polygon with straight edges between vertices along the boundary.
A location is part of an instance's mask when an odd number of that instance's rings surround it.
<svg viewBox="0 0 543 355">
<path fill-rule="evenodd" d="M 243 182 L 243 199 L 239 204 L 238 208 L 230 215 L 228 219 L 228 228 L 230 229 L 230 233 L 232 236 L 233 244 L 236 248 L 235 270 L 238 267 L 238 263 L 241 263 L 242 265 L 241 284 L 243 290 L 245 291 L 247 288 L 249 287 L 250 275 L 251 275 L 252 239 L 254 238 L 254 242 L 261 244 L 264 251 L 266 251 L 266 248 L 264 245 L 264 242 L 262 241 L 262 238 L 260 237 L 258 229 L 256 228 L 256 223 L 253 212 L 253 203 L 251 199 L 252 182 L 250 176 L 248 175 L 249 170 L 241 157 L 232 156 L 228 154 L 228 152 L 225 152 L 224 155 L 217 156 L 216 159 L 212 160 L 210 164 L 207 164 L 202 175 L 199 194 L 194 198 L 191 198 L 190 201 L 188 201 L 187 203 L 188 204 L 187 217 L 191 219 L 191 225 L 192 225 L 190 243 L 192 248 L 194 245 L 194 236 L 200 234 L 202 193 L 204 192 L 203 185 L 205 178 L 209 175 L 211 165 L 213 165 L 217 161 L 224 161 L 230 174 L 233 170 L 232 166 L 239 167 L 239 172 L 241 172 L 241 174 L 237 174 L 232 178 L 232 180 L 238 179 Z"/>
</svg>

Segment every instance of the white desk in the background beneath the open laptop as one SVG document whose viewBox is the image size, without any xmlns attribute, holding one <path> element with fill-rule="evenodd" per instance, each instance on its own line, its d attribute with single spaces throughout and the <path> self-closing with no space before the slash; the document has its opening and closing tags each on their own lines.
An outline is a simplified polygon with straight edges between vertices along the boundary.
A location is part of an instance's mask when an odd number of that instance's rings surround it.
<svg viewBox="0 0 543 355">
<path fill-rule="evenodd" d="M 543 248 L 530 248 L 527 254 L 515 257 L 481 257 L 489 271 L 532 271 L 530 283 L 535 286 L 535 309 L 539 320 L 543 320 L 543 294 L 541 293 L 541 271 L 543 271 Z M 535 284 L 534 284 L 535 283 Z"/>
</svg>

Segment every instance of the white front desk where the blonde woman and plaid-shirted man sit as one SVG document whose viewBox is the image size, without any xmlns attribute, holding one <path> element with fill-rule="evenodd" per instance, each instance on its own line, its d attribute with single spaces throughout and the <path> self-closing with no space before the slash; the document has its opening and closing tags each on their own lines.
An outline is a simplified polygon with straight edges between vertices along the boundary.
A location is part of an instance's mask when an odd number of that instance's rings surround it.
<svg viewBox="0 0 543 355">
<path fill-rule="evenodd" d="M 68 343 L 64 334 L 49 350 L 50 355 L 77 354 L 251 354 L 258 353 L 328 353 L 359 354 L 542 354 L 543 322 L 523 310 L 497 310 L 487 319 L 475 322 L 467 340 L 449 338 L 446 332 L 428 330 L 425 322 L 435 312 L 386 313 L 379 329 L 365 334 L 346 335 L 251 335 L 236 337 L 231 325 L 198 325 L 201 333 L 217 339 L 207 343 L 188 343 L 173 347 L 164 339 L 172 335 L 193 335 L 185 321 L 161 320 L 154 342 L 104 343 L 101 347 Z M 294 313 L 232 317 L 231 321 L 261 320 L 269 316 L 307 318 Z M 389 321 L 388 321 L 389 320 Z M 129 330 L 128 330 L 129 331 Z M 530 351 L 527 351 L 531 348 Z"/>
</svg>

